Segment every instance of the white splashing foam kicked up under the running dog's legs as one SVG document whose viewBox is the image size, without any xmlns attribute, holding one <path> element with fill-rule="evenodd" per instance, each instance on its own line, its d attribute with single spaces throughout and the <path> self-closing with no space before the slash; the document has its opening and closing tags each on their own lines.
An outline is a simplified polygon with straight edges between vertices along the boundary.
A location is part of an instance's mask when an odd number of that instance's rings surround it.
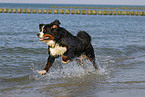
<svg viewBox="0 0 145 97">
<path fill-rule="evenodd" d="M 41 68 L 38 68 L 37 66 L 32 65 L 32 71 L 36 74 L 37 80 L 40 80 L 45 76 L 45 79 L 58 79 L 58 78 L 83 78 L 85 76 L 108 76 L 109 77 L 109 71 L 107 70 L 107 67 L 105 66 L 99 66 L 98 70 L 95 70 L 93 67 L 93 64 L 86 60 L 83 63 L 83 66 L 79 65 L 77 61 L 69 62 L 68 64 L 63 64 L 61 60 L 55 61 L 53 66 L 50 68 L 49 72 L 46 73 L 46 75 L 40 75 L 39 71 L 41 71 Z M 107 77 L 107 78 L 108 78 Z M 44 78 L 43 78 L 44 79 Z"/>
</svg>

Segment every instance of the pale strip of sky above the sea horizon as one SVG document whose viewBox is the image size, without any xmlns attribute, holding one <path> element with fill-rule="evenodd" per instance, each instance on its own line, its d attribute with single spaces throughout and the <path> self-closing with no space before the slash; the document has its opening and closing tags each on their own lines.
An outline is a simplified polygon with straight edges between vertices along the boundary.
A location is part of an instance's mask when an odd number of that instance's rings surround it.
<svg viewBox="0 0 145 97">
<path fill-rule="evenodd" d="M 0 3 L 144 5 L 145 0 L 0 0 Z"/>
</svg>

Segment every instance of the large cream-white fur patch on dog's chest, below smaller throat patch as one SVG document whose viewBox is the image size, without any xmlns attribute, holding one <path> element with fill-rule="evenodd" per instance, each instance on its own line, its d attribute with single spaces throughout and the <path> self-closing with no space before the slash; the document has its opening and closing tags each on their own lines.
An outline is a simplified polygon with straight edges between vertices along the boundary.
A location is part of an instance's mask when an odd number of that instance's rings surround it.
<svg viewBox="0 0 145 97">
<path fill-rule="evenodd" d="M 51 47 L 49 50 L 50 50 L 50 55 L 57 56 L 57 55 L 63 55 L 66 52 L 67 48 L 56 44 L 55 47 L 53 48 Z"/>
</svg>

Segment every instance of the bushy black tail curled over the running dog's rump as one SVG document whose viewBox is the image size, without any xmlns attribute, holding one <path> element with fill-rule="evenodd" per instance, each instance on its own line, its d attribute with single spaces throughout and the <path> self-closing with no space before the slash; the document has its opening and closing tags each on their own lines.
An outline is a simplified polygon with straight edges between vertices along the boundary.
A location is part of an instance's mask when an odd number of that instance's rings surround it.
<svg viewBox="0 0 145 97">
<path fill-rule="evenodd" d="M 91 42 L 91 36 L 85 31 L 78 32 L 77 37 L 85 40 L 87 43 Z"/>
</svg>

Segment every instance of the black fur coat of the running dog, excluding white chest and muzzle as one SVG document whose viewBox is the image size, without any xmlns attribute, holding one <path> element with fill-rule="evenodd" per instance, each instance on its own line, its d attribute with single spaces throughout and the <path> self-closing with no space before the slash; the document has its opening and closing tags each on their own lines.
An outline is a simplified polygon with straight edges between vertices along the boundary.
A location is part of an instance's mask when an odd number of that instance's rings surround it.
<svg viewBox="0 0 145 97">
<path fill-rule="evenodd" d="M 58 27 L 52 28 L 54 24 L 57 24 Z M 73 36 L 66 29 L 59 27 L 59 24 L 60 22 L 58 20 L 51 24 L 40 24 L 39 29 L 41 30 L 42 26 L 45 26 L 43 33 L 52 35 L 52 37 L 54 37 L 53 40 L 56 43 L 67 48 L 67 51 L 62 55 L 62 60 L 71 61 L 75 57 L 79 57 L 83 54 L 93 63 L 95 69 L 98 69 L 95 63 L 95 54 L 91 44 L 91 36 L 85 31 L 80 31 L 77 36 Z M 48 71 L 57 57 L 59 56 L 52 56 L 49 53 L 48 61 L 44 70 Z"/>
</svg>

